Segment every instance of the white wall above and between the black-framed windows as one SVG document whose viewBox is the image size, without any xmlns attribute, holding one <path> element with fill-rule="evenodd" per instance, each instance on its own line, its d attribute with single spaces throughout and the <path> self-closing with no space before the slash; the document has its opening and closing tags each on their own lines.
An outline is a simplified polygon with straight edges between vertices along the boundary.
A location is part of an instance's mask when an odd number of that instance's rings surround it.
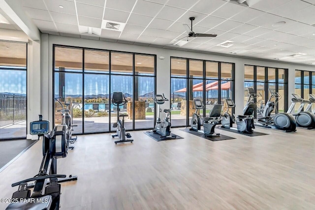
<svg viewBox="0 0 315 210">
<path fill-rule="evenodd" d="M 132 53 L 150 53 L 157 55 L 157 93 L 164 93 L 167 98 L 170 98 L 170 56 L 186 57 L 195 59 L 205 59 L 213 61 L 231 62 L 235 63 L 235 112 L 241 113 L 244 106 L 244 65 L 259 65 L 275 68 L 288 69 L 288 93 L 294 92 L 294 71 L 296 69 L 315 71 L 314 66 L 280 63 L 276 61 L 255 60 L 240 57 L 230 57 L 216 54 L 206 53 L 192 53 L 186 51 L 169 50 L 162 48 L 153 48 L 146 46 L 128 45 L 114 42 L 103 42 L 88 39 L 79 39 L 63 36 L 54 36 L 48 34 L 41 35 L 41 76 L 34 77 L 41 85 L 41 107 L 42 114 L 48 116 L 48 119 L 53 121 L 53 44 L 87 47 L 104 50 L 116 50 Z M 165 59 L 158 59 L 159 56 L 165 57 Z M 38 85 L 38 84 L 35 84 Z M 241 91 L 239 91 L 241 90 Z M 36 99 L 36 97 L 34 97 Z M 288 97 L 290 100 L 290 97 Z M 169 107 L 169 103 L 165 103 L 161 108 Z"/>
</svg>

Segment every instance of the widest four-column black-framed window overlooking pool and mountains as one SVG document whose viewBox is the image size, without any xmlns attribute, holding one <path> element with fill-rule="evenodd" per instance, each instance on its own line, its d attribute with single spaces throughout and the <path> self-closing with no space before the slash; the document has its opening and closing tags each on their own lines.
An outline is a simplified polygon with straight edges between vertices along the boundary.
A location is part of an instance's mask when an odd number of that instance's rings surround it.
<svg viewBox="0 0 315 210">
<path fill-rule="evenodd" d="M 54 97 L 70 104 L 74 133 L 116 131 L 117 107 L 111 103 L 116 91 L 128 101 L 118 107 L 128 114 L 127 130 L 154 127 L 155 55 L 57 45 L 54 52 Z M 61 105 L 54 106 L 59 124 Z"/>
</svg>

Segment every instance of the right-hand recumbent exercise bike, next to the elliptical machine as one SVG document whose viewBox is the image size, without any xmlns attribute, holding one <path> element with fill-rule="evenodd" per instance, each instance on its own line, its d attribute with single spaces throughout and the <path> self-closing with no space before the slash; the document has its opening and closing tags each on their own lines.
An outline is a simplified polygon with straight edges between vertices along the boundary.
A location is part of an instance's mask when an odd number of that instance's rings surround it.
<svg viewBox="0 0 315 210">
<path fill-rule="evenodd" d="M 234 108 L 235 104 L 232 99 L 225 99 L 225 103 L 228 107 L 227 111 L 223 114 L 223 118 L 221 120 L 222 128 L 237 130 L 241 133 L 252 133 L 255 128 L 253 113 L 256 108 L 256 103 L 254 99 L 257 98 L 257 94 L 255 94 L 253 88 L 249 87 L 248 92 L 250 94 L 246 105 L 243 109 L 243 115 L 237 115 L 237 117 L 230 115 L 228 113 L 229 108 Z M 236 119 L 236 120 L 235 120 Z M 235 121 L 237 128 L 233 128 L 233 122 Z"/>
</svg>

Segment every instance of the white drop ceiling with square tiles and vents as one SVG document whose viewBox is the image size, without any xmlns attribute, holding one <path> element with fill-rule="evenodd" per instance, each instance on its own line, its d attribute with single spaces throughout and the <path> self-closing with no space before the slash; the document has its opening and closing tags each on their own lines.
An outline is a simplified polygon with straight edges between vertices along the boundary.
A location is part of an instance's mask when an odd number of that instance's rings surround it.
<svg viewBox="0 0 315 210">
<path fill-rule="evenodd" d="M 315 64 L 315 0 L 247 0 L 250 6 L 229 0 L 19 1 L 43 33 Z M 182 25 L 191 16 L 194 32 L 218 36 L 172 45 L 187 34 Z M 100 35 L 80 33 L 79 25 L 100 28 L 102 20 L 126 26 L 123 31 L 101 29 Z M 285 24 L 273 26 L 278 22 Z M 225 41 L 234 44 L 217 46 Z M 305 54 L 291 56 L 297 53 Z"/>
</svg>

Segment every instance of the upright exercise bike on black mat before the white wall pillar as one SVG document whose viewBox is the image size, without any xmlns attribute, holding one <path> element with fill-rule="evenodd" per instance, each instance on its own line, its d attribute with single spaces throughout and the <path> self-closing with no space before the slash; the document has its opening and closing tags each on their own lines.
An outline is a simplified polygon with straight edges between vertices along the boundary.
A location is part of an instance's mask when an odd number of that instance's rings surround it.
<svg viewBox="0 0 315 210">
<path fill-rule="evenodd" d="M 157 110 L 158 110 L 158 116 L 157 116 L 157 122 L 156 122 L 156 126 L 154 127 L 153 132 L 158 133 L 159 135 L 161 135 L 159 138 L 160 139 L 172 139 L 172 138 L 176 138 L 177 135 L 171 134 L 171 121 L 169 121 L 168 116 L 171 113 L 170 109 L 164 109 L 163 112 L 165 113 L 165 118 L 163 119 L 163 121 L 160 118 L 160 112 L 162 111 L 160 109 L 160 105 L 164 104 L 165 101 L 168 101 L 168 99 L 166 99 L 162 95 L 154 95 L 153 96 L 153 100 L 154 102 L 158 105 Z"/>
</svg>

